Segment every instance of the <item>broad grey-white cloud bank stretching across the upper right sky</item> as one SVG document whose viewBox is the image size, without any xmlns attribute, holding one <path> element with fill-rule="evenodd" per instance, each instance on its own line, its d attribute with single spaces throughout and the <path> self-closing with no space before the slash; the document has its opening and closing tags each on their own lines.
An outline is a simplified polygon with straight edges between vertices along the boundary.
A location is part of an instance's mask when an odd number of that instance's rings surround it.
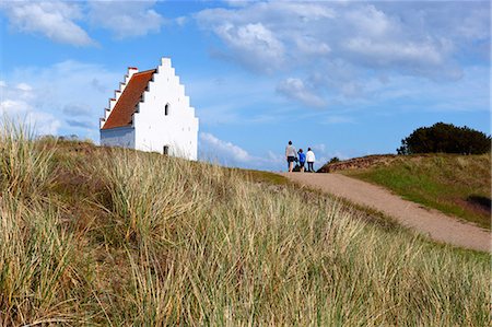
<svg viewBox="0 0 492 327">
<path fill-rule="evenodd" d="M 389 60 L 387 66 L 395 70 L 401 63 L 429 65 L 438 70 L 450 60 L 454 39 L 458 36 L 487 38 L 490 19 L 476 12 L 473 7 L 466 10 L 461 7 L 460 12 L 448 9 L 449 15 L 457 19 L 453 23 L 456 26 L 446 23 L 447 31 L 442 31 L 434 26 L 442 11 L 430 10 L 429 15 L 422 16 L 421 12 L 408 10 L 409 5 L 411 9 L 411 3 L 388 7 L 385 3 L 253 2 L 244 8 L 208 9 L 196 17 L 203 28 L 213 31 L 233 51 L 236 43 L 245 38 L 244 48 L 260 61 L 268 61 L 272 57 L 271 50 L 279 58 L 290 59 L 285 60 L 284 69 L 295 67 L 295 61 L 308 54 L 331 60 L 344 59 L 353 51 L 360 57 L 348 58 L 352 63 L 365 60 L 365 63 L 379 66 L 380 61 Z M 444 8 L 446 12 L 447 7 L 444 3 L 438 9 Z M 478 22 L 471 19 L 475 16 Z M 265 43 L 248 39 L 251 33 L 245 33 L 245 30 L 251 25 L 268 31 Z M 224 30 L 243 33 L 224 33 Z M 265 50 L 266 44 L 271 45 L 267 47 L 269 50 Z M 247 58 L 238 56 L 237 59 L 241 62 Z"/>
</svg>

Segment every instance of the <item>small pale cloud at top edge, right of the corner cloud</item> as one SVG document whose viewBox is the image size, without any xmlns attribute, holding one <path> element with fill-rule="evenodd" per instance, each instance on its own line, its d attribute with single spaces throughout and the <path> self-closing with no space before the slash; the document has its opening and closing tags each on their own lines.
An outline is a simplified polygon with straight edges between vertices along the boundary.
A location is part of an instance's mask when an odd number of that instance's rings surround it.
<svg viewBox="0 0 492 327">
<path fill-rule="evenodd" d="M 114 33 L 117 38 L 156 33 L 164 17 L 152 7 L 155 1 L 90 1 L 89 20 L 97 27 Z"/>
</svg>

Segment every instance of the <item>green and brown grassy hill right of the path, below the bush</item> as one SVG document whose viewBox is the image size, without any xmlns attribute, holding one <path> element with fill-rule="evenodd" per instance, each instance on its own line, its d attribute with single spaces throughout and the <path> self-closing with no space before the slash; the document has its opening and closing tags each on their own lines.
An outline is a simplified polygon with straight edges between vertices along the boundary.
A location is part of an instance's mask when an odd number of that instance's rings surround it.
<svg viewBox="0 0 492 327">
<path fill-rule="evenodd" d="M 382 185 L 411 201 L 490 230 L 490 154 L 374 155 L 325 170 Z"/>
</svg>

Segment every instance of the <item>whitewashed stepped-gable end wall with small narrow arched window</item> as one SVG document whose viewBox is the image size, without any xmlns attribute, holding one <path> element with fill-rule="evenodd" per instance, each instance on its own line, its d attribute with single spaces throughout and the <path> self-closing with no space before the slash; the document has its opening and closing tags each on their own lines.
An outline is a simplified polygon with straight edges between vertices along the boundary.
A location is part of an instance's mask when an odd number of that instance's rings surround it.
<svg viewBox="0 0 492 327">
<path fill-rule="evenodd" d="M 167 116 L 166 104 L 169 105 Z M 198 118 L 171 59 L 162 58 L 149 90 L 143 93 L 143 102 L 138 105 L 133 126 L 137 150 L 163 153 L 164 145 L 168 145 L 169 155 L 197 160 Z"/>
</svg>

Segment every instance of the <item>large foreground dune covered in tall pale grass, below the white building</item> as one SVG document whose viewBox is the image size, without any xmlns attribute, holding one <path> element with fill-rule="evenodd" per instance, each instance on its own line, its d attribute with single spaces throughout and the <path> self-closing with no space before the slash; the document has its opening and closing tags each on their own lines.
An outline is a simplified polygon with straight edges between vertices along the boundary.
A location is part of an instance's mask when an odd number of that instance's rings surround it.
<svg viewBox="0 0 492 327">
<path fill-rule="evenodd" d="M 15 126 L 0 173 L 0 325 L 490 325 L 489 254 L 272 175 Z"/>
</svg>

